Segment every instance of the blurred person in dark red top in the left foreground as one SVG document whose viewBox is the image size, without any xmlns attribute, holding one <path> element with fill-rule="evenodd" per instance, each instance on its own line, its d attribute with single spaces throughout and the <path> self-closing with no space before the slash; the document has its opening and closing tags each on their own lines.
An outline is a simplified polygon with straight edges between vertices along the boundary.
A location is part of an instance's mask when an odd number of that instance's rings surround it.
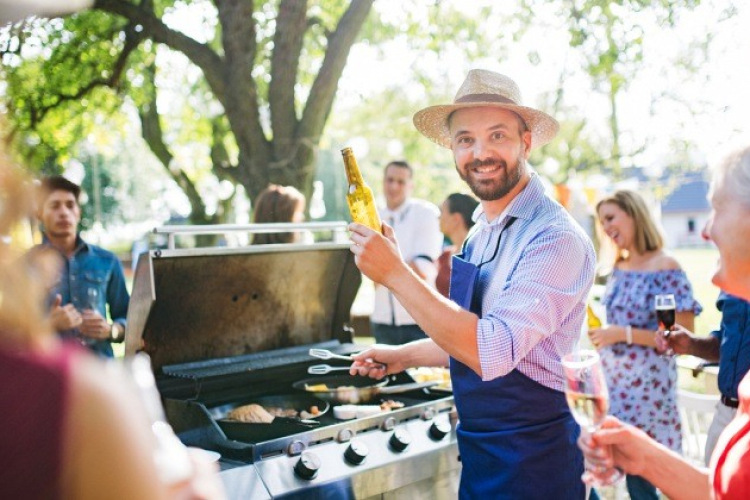
<svg viewBox="0 0 750 500">
<path fill-rule="evenodd" d="M 27 213 L 29 186 L 0 152 L 0 233 Z M 162 484 L 131 384 L 54 335 L 44 298 L 56 253 L 0 246 L 0 498 L 223 498 L 212 465 L 197 457 L 192 480 Z"/>
</svg>

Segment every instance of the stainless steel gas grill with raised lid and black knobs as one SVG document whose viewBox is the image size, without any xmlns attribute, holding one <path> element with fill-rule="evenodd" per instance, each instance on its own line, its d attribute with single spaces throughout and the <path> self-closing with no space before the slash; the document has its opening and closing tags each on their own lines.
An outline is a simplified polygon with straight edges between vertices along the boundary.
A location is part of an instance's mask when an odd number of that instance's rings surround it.
<svg viewBox="0 0 750 500">
<path fill-rule="evenodd" d="M 355 420 L 336 420 L 329 410 L 314 426 L 274 421 L 247 424 L 239 435 L 223 430 L 217 415 L 227 405 L 314 396 L 293 388 L 310 377 L 309 366 L 320 363 L 309 356 L 310 348 L 338 354 L 363 348 L 352 343 L 348 326 L 361 275 L 348 243 L 173 248 L 179 233 L 211 230 L 162 229 L 172 248 L 141 256 L 125 348 L 127 355 L 151 356 L 167 419 L 180 439 L 221 454 L 229 497 L 455 498 L 460 462 L 453 398 L 444 390 L 384 396 L 404 407 Z M 401 373 L 389 377 L 388 385 L 410 382 Z"/>
</svg>

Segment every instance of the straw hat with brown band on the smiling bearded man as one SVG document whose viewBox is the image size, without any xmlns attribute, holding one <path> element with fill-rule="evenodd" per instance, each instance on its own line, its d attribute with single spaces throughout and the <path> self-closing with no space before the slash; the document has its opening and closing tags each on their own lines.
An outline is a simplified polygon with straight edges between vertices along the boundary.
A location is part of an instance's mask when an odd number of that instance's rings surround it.
<svg viewBox="0 0 750 500">
<path fill-rule="evenodd" d="M 521 90 L 505 75 L 484 69 L 469 71 L 453 104 L 430 106 L 414 115 L 414 126 L 425 137 L 444 148 L 451 147 L 448 117 L 457 109 L 495 107 L 519 115 L 531 131 L 531 147 L 538 148 L 555 138 L 560 125 L 542 111 L 521 106 Z"/>
</svg>

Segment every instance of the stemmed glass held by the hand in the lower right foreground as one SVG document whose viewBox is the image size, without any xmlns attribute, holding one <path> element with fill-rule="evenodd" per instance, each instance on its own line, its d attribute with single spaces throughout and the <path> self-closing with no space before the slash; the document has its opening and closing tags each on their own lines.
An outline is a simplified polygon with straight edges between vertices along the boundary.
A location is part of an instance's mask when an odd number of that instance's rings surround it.
<svg viewBox="0 0 750 500">
<path fill-rule="evenodd" d="M 566 379 L 565 397 L 570 412 L 584 432 L 593 433 L 609 412 L 609 391 L 599 353 L 592 350 L 575 351 L 563 356 L 562 365 Z M 594 477 L 597 479 L 592 486 L 611 486 L 620 481 L 623 474 L 619 469 L 611 469 L 607 471 L 606 478 L 601 478 L 601 474 Z"/>
</svg>

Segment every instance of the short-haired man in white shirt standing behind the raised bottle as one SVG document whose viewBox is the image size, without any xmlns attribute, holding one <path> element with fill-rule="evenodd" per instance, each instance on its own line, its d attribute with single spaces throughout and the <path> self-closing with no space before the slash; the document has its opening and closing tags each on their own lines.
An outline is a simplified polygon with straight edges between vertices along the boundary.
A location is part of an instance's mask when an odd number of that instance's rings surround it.
<svg viewBox="0 0 750 500">
<path fill-rule="evenodd" d="M 440 210 L 432 203 L 411 198 L 414 179 L 405 161 L 392 161 L 383 174 L 386 206 L 380 218 L 393 227 L 401 256 L 417 275 L 435 286 L 437 258 L 443 244 Z M 414 318 L 386 287 L 375 286 L 375 306 L 370 317 L 372 333 L 380 344 L 405 344 L 426 337 Z"/>
</svg>

